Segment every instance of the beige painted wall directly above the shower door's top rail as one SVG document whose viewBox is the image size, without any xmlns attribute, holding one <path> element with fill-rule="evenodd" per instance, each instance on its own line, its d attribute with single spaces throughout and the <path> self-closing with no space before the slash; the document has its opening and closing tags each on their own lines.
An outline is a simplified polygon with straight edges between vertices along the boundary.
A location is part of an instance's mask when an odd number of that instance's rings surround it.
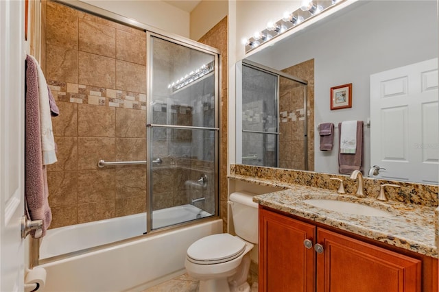
<svg viewBox="0 0 439 292">
<path fill-rule="evenodd" d="M 189 38 L 189 12 L 185 12 L 163 1 L 135 0 L 80 0 L 110 12 L 126 16 L 165 32 Z"/>
</svg>

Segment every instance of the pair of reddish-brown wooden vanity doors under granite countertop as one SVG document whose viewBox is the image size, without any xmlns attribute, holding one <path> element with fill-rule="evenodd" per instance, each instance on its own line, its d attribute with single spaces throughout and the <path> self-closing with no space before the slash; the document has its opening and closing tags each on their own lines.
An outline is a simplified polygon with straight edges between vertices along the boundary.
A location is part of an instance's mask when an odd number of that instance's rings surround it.
<svg viewBox="0 0 439 292">
<path fill-rule="evenodd" d="M 421 260 L 259 208 L 259 291 L 421 291 Z"/>
</svg>

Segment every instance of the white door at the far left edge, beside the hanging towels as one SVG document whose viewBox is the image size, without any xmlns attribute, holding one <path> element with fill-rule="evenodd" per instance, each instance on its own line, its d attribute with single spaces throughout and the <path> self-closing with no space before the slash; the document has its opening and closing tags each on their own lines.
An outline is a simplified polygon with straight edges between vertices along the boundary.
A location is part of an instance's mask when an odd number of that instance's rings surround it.
<svg viewBox="0 0 439 292">
<path fill-rule="evenodd" d="M 24 1 L 0 0 L 0 291 L 23 291 Z"/>
</svg>

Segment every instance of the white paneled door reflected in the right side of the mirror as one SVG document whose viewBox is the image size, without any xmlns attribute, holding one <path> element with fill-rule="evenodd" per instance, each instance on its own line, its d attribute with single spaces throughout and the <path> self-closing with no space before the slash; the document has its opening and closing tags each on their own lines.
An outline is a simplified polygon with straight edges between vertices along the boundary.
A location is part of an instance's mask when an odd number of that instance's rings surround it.
<svg viewBox="0 0 439 292">
<path fill-rule="evenodd" d="M 378 178 L 438 183 L 438 59 L 370 75 L 370 165 Z"/>
</svg>

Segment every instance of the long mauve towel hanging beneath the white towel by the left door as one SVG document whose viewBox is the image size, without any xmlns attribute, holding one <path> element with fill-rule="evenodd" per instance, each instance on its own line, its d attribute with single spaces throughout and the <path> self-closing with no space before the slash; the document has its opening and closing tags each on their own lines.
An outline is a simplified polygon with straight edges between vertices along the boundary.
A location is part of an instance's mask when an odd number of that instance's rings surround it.
<svg viewBox="0 0 439 292">
<path fill-rule="evenodd" d="M 43 232 L 31 232 L 39 238 L 46 234 L 52 219 L 49 207 L 46 167 L 41 148 L 37 64 L 26 58 L 25 96 L 25 212 L 30 220 L 43 219 Z"/>
</svg>

